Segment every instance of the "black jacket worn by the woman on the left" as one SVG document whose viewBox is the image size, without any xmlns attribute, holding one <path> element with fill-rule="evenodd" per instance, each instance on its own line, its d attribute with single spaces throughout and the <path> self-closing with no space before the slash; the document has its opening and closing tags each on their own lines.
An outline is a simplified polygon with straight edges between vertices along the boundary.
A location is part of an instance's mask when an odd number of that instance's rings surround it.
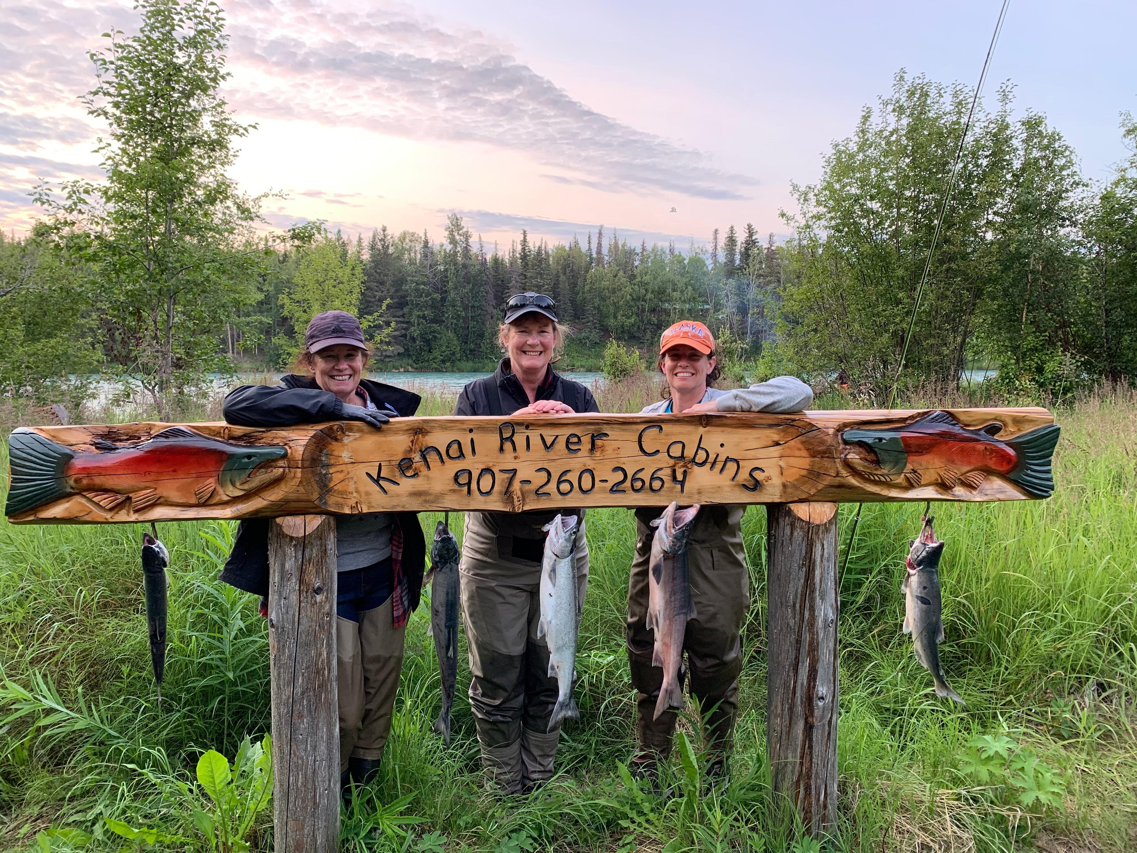
<svg viewBox="0 0 1137 853">
<path fill-rule="evenodd" d="M 402 388 L 359 382 L 381 412 L 409 417 L 418 411 L 422 398 Z M 343 401 L 325 391 L 309 376 L 287 374 L 279 386 L 241 386 L 225 397 L 225 422 L 238 426 L 296 426 L 343 417 Z M 418 606 L 423 570 L 426 564 L 426 538 L 417 513 L 392 513 L 402 531 L 402 571 L 407 578 L 410 608 Z M 221 580 L 255 595 L 268 595 L 268 524 L 272 519 L 247 519 L 236 528 Z"/>
</svg>

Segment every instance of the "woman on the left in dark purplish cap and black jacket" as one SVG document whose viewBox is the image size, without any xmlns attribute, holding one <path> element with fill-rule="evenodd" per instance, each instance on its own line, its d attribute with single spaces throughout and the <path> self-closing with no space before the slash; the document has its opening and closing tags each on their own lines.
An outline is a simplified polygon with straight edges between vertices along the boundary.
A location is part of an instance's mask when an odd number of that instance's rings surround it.
<svg viewBox="0 0 1137 853">
<path fill-rule="evenodd" d="M 294 426 L 360 421 L 375 429 L 409 417 L 416 394 L 363 378 L 368 347 L 359 321 L 342 310 L 308 323 L 296 373 L 279 386 L 241 386 L 224 415 L 241 426 Z M 268 519 L 242 521 L 221 579 L 268 595 Z M 340 714 L 340 782 L 365 784 L 379 769 L 391 730 L 404 635 L 418 606 L 426 544 L 415 513 L 335 516 L 335 655 Z"/>
</svg>

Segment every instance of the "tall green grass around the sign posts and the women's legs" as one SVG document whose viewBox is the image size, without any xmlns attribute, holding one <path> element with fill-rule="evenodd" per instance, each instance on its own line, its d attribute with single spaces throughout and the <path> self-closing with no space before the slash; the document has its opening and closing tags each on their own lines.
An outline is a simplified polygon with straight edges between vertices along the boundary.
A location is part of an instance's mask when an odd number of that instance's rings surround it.
<svg viewBox="0 0 1137 853">
<path fill-rule="evenodd" d="M 623 408 L 654 394 L 647 386 L 609 391 Z M 429 409 L 442 414 L 448 405 L 432 398 Z M 966 707 L 936 698 L 899 631 L 902 561 L 922 505 L 864 506 L 840 579 L 840 848 L 1021 850 L 1040 828 L 1081 845 L 1055 850 L 1094 850 L 1090 840 L 1137 847 L 1137 399 L 1094 397 L 1060 421 L 1053 498 L 935 507 L 947 541 L 941 654 Z M 841 507 L 843 554 L 854 511 Z M 424 528 L 438 517 L 424 513 Z M 451 524 L 460 529 L 457 514 Z M 232 527 L 159 524 L 172 554 L 159 707 L 143 620 L 142 530 L 0 524 L 0 848 L 31 850 L 40 830 L 73 827 L 96 836 L 91 850 L 119 850 L 105 817 L 200 840 L 189 820 L 200 795 L 184 786 L 198 756 L 208 748 L 232 756 L 243 737 L 268 730 L 264 620 L 250 596 L 215 580 Z M 632 750 L 623 621 L 633 522 L 628 511 L 590 511 L 582 719 L 562 738 L 563 775 L 533 797 L 484 790 L 464 665 L 455 738 L 442 747 L 430 732 L 439 679 L 421 608 L 407 632 L 381 780 L 345 813 L 345 848 L 810 850 L 773 819 L 766 785 L 762 507 L 747 512 L 744 532 L 754 604 L 727 792 L 691 795 L 678 755 L 672 770 L 687 796 L 663 802 L 621 778 Z M 684 726 L 691 731 L 689 720 Z M 961 773 L 980 735 L 1009 737 L 1010 763 L 1037 759 L 1031 778 L 1051 772 L 1064 786 L 1060 804 L 1023 806 L 1024 788 L 1009 781 L 1010 771 L 999 776 L 1002 760 L 986 780 Z M 400 822 L 406 818 L 421 822 Z M 271 848 L 271 826 L 252 840 Z"/>
</svg>

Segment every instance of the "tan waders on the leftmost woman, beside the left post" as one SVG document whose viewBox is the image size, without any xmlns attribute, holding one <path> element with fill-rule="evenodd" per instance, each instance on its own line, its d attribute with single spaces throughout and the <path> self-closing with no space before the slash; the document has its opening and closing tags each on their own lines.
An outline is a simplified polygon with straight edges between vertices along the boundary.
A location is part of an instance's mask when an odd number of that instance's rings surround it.
<svg viewBox="0 0 1137 853">
<path fill-rule="evenodd" d="M 341 773 L 348 769 L 349 759 L 373 768 L 383 757 L 399 689 L 406 630 L 406 626 L 393 627 L 390 597 L 374 610 L 359 613 L 358 622 L 335 618 Z"/>
</svg>

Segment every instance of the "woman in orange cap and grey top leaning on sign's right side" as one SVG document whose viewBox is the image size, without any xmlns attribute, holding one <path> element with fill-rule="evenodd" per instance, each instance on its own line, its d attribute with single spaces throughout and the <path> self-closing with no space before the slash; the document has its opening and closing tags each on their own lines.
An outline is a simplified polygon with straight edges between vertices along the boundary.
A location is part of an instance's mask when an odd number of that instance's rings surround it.
<svg viewBox="0 0 1137 853">
<path fill-rule="evenodd" d="M 799 379 L 778 376 L 749 388 L 719 390 L 719 359 L 714 336 L 703 323 L 684 320 L 659 339 L 659 372 L 667 381 L 665 398 L 642 414 L 696 412 L 798 412 L 813 403 L 813 391 Z M 727 757 L 735 727 L 738 676 L 742 669 L 740 632 L 750 603 L 750 575 L 742 547 L 745 505 L 704 506 L 688 545 L 691 598 L 698 614 L 687 623 L 689 689 L 703 710 L 703 736 L 712 756 L 707 775 L 725 778 Z M 631 769 L 640 777 L 656 775 L 671 754 L 678 714 L 665 711 L 654 719 L 663 685 L 663 669 L 652 664 L 655 635 L 647 627 L 650 527 L 663 507 L 636 511 L 638 536 L 628 582 L 628 663 L 637 690 L 637 751 Z M 680 679 L 684 677 L 680 670 Z"/>
</svg>

